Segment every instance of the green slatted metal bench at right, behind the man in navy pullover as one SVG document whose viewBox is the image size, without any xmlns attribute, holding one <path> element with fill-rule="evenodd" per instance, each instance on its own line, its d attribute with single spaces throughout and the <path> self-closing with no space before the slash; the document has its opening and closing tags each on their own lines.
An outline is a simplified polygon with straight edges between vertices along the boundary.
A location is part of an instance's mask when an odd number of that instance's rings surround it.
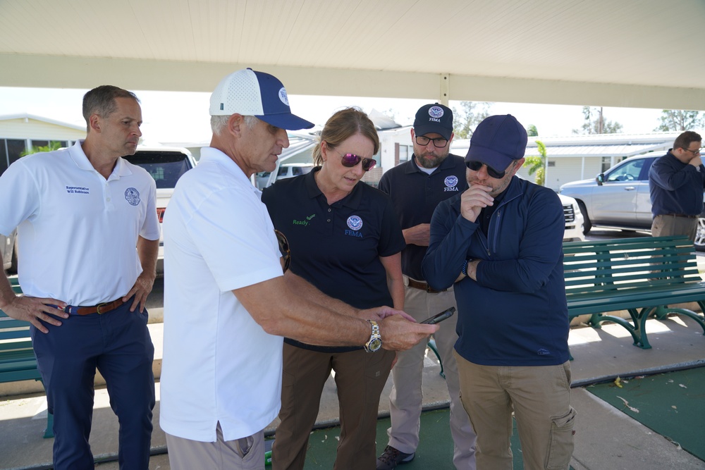
<svg viewBox="0 0 705 470">
<path fill-rule="evenodd" d="M 563 243 L 563 276 L 570 319 L 590 314 L 600 328 L 611 321 L 629 331 L 636 346 L 651 348 L 646 320 L 685 315 L 705 332 L 705 320 L 692 310 L 668 307 L 697 302 L 705 311 L 705 282 L 687 237 L 641 237 Z M 626 310 L 631 321 L 606 314 Z"/>
</svg>

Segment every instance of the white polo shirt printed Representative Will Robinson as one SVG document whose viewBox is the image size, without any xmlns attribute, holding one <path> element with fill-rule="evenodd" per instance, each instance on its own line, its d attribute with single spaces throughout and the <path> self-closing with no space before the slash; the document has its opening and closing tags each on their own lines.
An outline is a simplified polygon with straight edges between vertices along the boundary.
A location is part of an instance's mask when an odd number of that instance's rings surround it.
<svg viewBox="0 0 705 470">
<path fill-rule="evenodd" d="M 0 233 L 18 228 L 26 295 L 96 305 L 142 272 L 137 236 L 159 239 L 156 185 L 119 158 L 106 180 L 81 147 L 25 156 L 0 176 Z"/>
</svg>

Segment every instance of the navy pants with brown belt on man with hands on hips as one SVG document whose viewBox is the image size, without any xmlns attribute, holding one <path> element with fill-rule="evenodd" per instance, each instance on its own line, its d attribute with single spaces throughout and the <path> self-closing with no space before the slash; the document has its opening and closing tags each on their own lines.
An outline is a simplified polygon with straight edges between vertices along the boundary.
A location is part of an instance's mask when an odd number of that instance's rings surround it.
<svg viewBox="0 0 705 470">
<path fill-rule="evenodd" d="M 133 299 L 106 314 L 71 315 L 49 333 L 32 326 L 37 366 L 54 413 L 54 469 L 94 469 L 88 437 L 93 379 L 105 378 L 110 407 L 120 423 L 121 469 L 149 468 L 154 409 L 154 345 L 147 310 L 130 312 Z"/>
</svg>

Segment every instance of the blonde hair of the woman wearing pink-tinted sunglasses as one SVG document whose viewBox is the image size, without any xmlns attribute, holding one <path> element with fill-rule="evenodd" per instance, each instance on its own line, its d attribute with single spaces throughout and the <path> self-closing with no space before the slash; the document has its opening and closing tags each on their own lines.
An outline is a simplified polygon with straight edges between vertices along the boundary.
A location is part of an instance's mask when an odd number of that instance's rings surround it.
<svg viewBox="0 0 705 470">
<path fill-rule="evenodd" d="M 321 137 L 318 145 L 313 149 L 313 163 L 316 166 L 323 165 L 321 155 L 321 142 L 326 142 L 329 147 L 338 147 L 349 137 L 355 134 L 364 135 L 374 144 L 374 154 L 379 151 L 379 137 L 374 123 L 367 117 L 362 109 L 357 107 L 341 109 L 333 114 L 321 130 Z"/>
</svg>

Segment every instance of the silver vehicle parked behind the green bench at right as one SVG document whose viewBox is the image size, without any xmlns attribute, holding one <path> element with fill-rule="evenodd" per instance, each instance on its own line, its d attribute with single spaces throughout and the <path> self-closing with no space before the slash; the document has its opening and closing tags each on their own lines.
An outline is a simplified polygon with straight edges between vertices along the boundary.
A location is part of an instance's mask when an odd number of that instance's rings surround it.
<svg viewBox="0 0 705 470">
<path fill-rule="evenodd" d="M 585 233 L 593 227 L 651 231 L 649 168 L 659 156 L 632 156 L 594 180 L 573 181 L 560 187 L 560 194 L 577 200 Z M 695 248 L 705 251 L 705 212 L 700 214 Z"/>
</svg>

